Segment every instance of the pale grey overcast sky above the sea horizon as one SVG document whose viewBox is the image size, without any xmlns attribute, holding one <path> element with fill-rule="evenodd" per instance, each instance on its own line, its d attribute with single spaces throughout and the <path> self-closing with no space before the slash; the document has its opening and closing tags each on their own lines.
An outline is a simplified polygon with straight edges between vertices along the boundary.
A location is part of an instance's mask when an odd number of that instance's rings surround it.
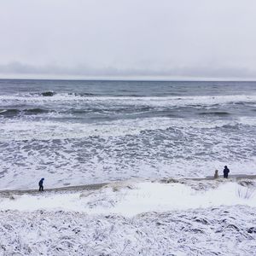
<svg viewBox="0 0 256 256">
<path fill-rule="evenodd" d="M 256 79 L 255 0 L 0 0 L 0 78 Z"/>
</svg>

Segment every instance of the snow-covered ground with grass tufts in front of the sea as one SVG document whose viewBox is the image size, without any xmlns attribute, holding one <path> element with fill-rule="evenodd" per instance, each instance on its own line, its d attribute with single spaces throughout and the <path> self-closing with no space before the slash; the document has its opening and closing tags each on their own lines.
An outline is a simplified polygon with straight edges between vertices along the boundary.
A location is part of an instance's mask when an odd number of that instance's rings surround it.
<svg viewBox="0 0 256 256">
<path fill-rule="evenodd" d="M 2 197 L 0 255 L 255 255 L 254 180 L 169 182 Z"/>
</svg>

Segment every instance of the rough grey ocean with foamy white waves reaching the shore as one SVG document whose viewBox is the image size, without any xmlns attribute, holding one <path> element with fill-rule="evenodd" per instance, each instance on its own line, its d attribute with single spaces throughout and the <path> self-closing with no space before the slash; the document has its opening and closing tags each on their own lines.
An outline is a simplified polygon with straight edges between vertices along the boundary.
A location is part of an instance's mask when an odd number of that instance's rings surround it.
<svg viewBox="0 0 256 256">
<path fill-rule="evenodd" d="M 255 82 L 0 80 L 0 188 L 256 171 Z"/>
</svg>

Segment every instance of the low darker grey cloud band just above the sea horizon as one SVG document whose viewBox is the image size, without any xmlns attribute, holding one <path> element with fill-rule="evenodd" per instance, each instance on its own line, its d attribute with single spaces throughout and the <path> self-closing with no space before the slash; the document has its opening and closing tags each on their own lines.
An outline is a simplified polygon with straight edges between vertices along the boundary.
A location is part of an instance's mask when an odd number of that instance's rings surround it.
<svg viewBox="0 0 256 256">
<path fill-rule="evenodd" d="M 237 67 L 173 67 L 171 69 L 118 69 L 116 67 L 91 68 L 91 67 L 58 67 L 49 66 L 32 66 L 20 62 L 0 65 L 0 74 L 20 74 L 20 75 L 51 75 L 51 76 L 68 76 L 68 77 L 147 77 L 155 76 L 162 78 L 247 78 L 255 79 L 255 70 Z"/>
</svg>

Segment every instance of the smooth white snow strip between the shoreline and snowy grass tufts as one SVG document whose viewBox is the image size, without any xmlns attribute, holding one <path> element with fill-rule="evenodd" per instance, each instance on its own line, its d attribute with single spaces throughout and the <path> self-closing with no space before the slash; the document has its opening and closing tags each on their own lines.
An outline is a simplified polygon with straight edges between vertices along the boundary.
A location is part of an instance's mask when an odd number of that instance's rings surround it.
<svg viewBox="0 0 256 256">
<path fill-rule="evenodd" d="M 0 210 L 64 210 L 89 214 L 117 213 L 131 217 L 142 212 L 246 205 L 256 207 L 254 189 L 222 183 L 195 190 L 182 183 L 112 183 L 100 190 L 62 194 L 14 195 L 0 199 Z"/>
</svg>

